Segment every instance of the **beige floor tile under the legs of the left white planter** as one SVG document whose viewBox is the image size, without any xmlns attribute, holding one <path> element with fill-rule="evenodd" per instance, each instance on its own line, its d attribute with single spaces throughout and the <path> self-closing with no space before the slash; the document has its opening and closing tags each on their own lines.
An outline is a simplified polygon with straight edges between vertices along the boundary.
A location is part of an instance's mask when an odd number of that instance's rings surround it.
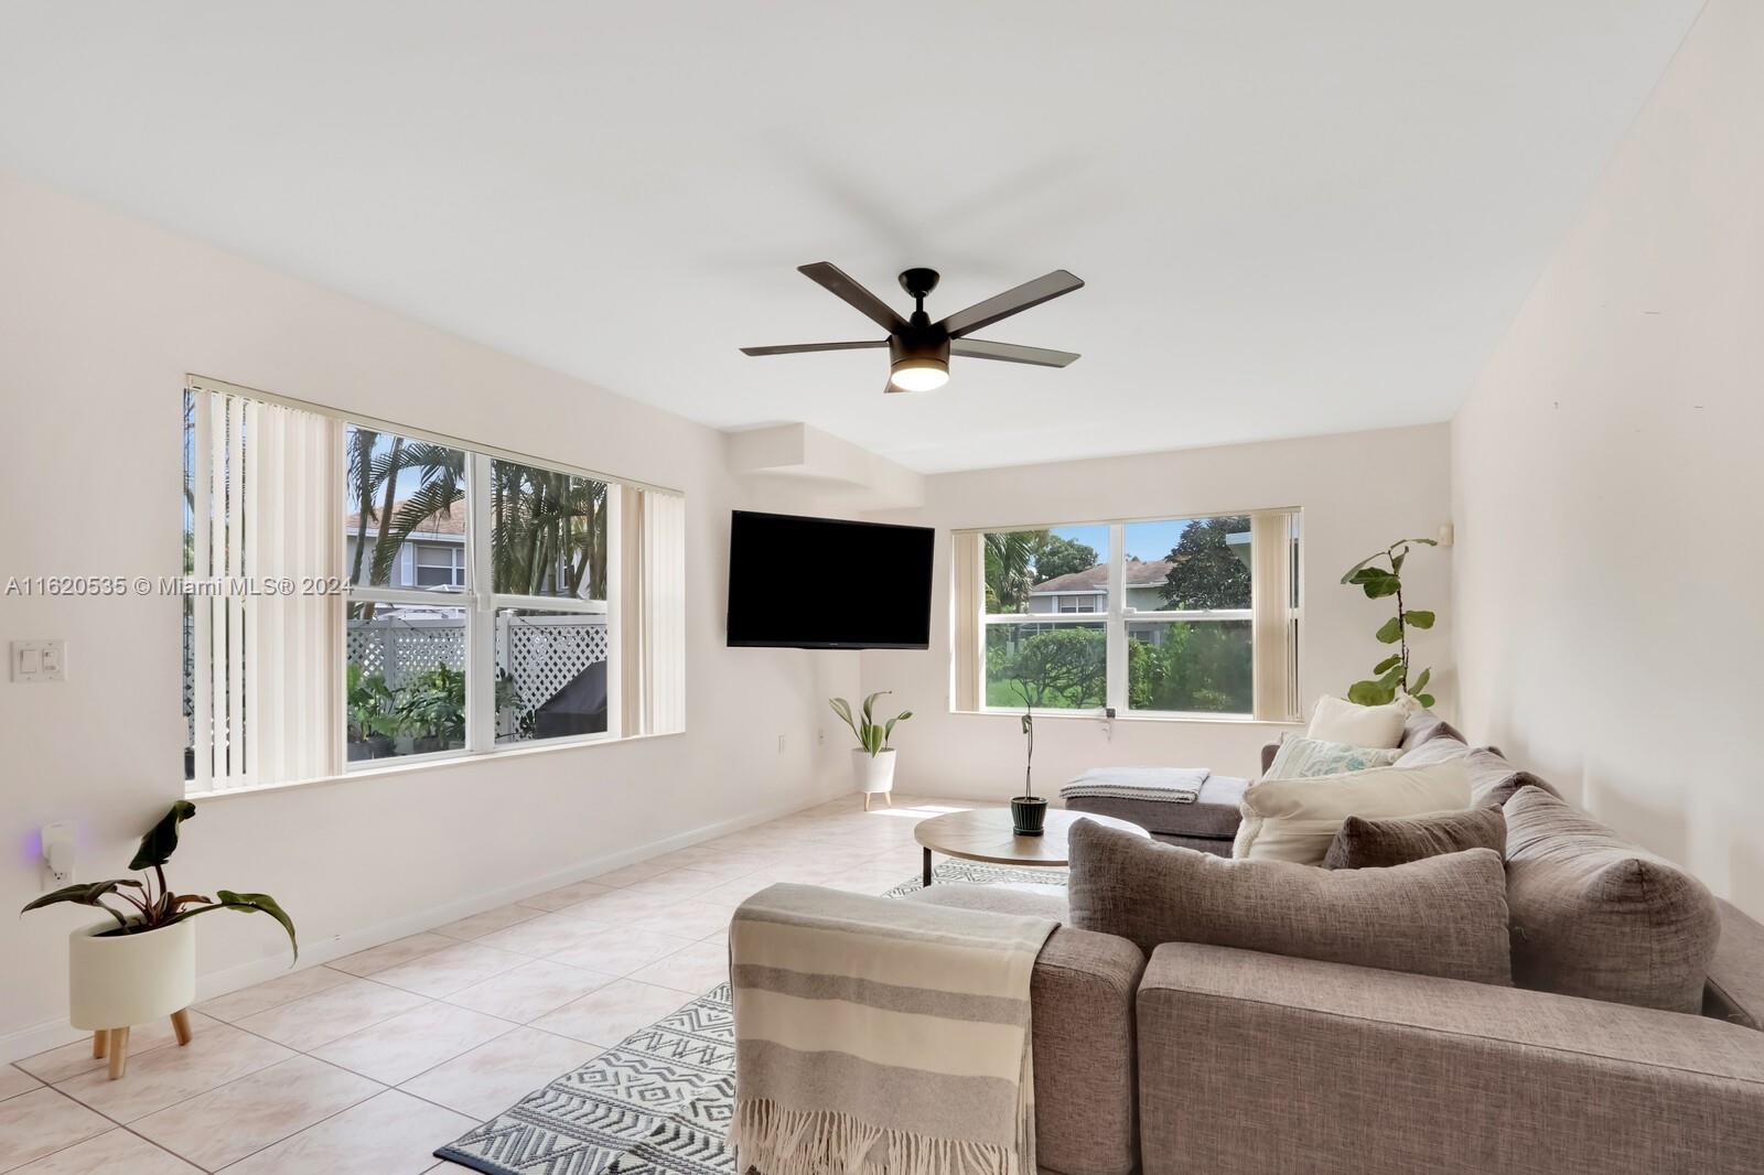
<svg viewBox="0 0 1764 1175">
<path fill-rule="evenodd" d="M 155 1110 L 206 1094 L 293 1055 L 275 1041 L 210 1022 L 182 1048 L 171 1044 L 139 1057 L 131 1050 L 129 1073 L 120 1081 L 111 1081 L 104 1069 L 95 1069 L 60 1081 L 56 1089 L 127 1126 Z"/>
</svg>

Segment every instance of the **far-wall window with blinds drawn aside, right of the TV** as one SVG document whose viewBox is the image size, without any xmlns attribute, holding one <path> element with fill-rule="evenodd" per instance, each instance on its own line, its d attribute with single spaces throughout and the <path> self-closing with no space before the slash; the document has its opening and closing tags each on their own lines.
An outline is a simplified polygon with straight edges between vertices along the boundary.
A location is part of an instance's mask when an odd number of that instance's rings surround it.
<svg viewBox="0 0 1764 1175">
<path fill-rule="evenodd" d="M 956 550 L 961 709 L 1298 709 L 1297 510 L 961 533 Z"/>
</svg>

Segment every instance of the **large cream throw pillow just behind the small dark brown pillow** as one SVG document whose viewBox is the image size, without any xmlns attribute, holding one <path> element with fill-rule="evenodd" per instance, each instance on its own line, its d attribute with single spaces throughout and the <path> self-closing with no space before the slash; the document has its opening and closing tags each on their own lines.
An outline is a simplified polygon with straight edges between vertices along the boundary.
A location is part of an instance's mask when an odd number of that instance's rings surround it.
<svg viewBox="0 0 1764 1175">
<path fill-rule="evenodd" d="M 1461 759 L 1420 767 L 1371 767 L 1309 780 L 1261 780 L 1244 790 L 1233 857 L 1323 864 L 1351 817 L 1411 817 L 1469 806 Z"/>
</svg>

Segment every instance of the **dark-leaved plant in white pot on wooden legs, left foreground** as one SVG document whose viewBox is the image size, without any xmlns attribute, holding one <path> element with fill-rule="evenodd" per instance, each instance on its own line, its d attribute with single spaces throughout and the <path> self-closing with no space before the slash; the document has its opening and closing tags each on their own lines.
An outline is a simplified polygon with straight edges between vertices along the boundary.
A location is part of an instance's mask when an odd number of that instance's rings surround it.
<svg viewBox="0 0 1764 1175">
<path fill-rule="evenodd" d="M 171 1016 L 178 1044 L 191 1041 L 189 1006 L 196 999 L 196 926 L 191 919 L 210 910 L 261 912 L 280 923 L 300 958 L 295 923 L 266 893 L 217 889 L 213 898 L 173 893 L 166 884 L 166 861 L 178 847 L 178 824 L 196 815 L 196 805 L 180 799 L 136 849 L 131 870 L 143 877 L 79 882 L 30 902 L 35 910 L 60 902 L 90 905 L 109 919 L 83 926 L 67 940 L 67 1004 L 76 1029 L 92 1032 L 92 1055 L 109 1057 L 116 1080 L 129 1062 L 129 1029 L 159 1016 Z M 113 898 L 115 903 L 104 902 Z M 25 910 L 19 910 L 21 914 Z"/>
</svg>

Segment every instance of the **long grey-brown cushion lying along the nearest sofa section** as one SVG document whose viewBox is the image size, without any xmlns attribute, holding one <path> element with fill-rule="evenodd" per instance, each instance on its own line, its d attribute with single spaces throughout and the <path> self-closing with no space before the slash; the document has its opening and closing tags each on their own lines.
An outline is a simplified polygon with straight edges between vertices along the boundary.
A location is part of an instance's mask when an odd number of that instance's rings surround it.
<svg viewBox="0 0 1764 1175">
<path fill-rule="evenodd" d="M 1471 849 L 1390 870 L 1228 861 L 1078 820 L 1069 924 L 1132 940 L 1314 958 L 1512 984 L 1501 856 Z"/>
</svg>

